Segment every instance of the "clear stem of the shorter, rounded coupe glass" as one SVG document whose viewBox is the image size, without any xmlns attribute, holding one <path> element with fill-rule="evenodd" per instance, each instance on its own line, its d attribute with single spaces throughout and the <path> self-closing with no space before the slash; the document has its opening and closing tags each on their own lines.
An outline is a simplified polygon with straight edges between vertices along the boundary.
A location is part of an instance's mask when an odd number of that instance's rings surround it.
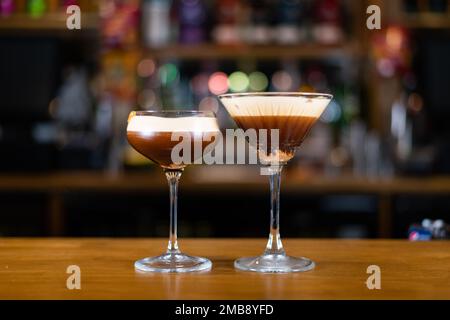
<svg viewBox="0 0 450 320">
<path fill-rule="evenodd" d="M 180 253 L 177 242 L 178 181 L 183 170 L 164 170 L 170 188 L 170 232 L 167 253 Z"/>
</svg>

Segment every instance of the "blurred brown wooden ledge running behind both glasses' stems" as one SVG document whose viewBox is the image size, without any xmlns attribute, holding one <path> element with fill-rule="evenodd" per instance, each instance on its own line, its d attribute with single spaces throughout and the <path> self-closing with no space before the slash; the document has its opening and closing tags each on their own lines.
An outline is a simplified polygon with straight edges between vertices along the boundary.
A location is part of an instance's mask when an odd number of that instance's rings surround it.
<svg viewBox="0 0 450 320">
<path fill-rule="evenodd" d="M 191 168 L 183 175 L 182 188 L 189 192 L 267 192 L 267 177 L 255 173 L 242 179 L 223 179 Z M 190 171 L 190 172 L 189 172 Z M 431 176 L 364 178 L 304 175 L 295 171 L 283 176 L 283 193 L 355 193 L 355 194 L 449 194 L 450 177 Z M 102 172 L 61 172 L 51 174 L 1 174 L 1 192 L 165 192 L 164 175 L 154 172 L 108 174 Z"/>
</svg>

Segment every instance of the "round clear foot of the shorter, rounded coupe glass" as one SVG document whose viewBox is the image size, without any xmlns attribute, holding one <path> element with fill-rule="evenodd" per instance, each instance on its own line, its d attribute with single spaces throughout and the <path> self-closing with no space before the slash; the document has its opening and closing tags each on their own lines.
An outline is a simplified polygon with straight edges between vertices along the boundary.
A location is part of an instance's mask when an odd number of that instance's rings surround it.
<svg viewBox="0 0 450 320">
<path fill-rule="evenodd" d="M 210 270 L 210 260 L 191 257 L 183 253 L 165 253 L 157 257 L 138 260 L 134 267 L 142 272 L 194 272 Z"/>
</svg>

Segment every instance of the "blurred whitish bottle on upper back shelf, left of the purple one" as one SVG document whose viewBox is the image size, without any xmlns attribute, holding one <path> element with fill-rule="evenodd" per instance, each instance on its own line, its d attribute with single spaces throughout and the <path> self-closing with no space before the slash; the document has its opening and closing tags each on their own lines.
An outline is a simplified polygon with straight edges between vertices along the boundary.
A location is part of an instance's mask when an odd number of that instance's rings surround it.
<svg viewBox="0 0 450 320">
<path fill-rule="evenodd" d="M 142 4 L 142 33 L 148 47 L 162 47 L 170 42 L 171 1 L 145 0 Z"/>
</svg>

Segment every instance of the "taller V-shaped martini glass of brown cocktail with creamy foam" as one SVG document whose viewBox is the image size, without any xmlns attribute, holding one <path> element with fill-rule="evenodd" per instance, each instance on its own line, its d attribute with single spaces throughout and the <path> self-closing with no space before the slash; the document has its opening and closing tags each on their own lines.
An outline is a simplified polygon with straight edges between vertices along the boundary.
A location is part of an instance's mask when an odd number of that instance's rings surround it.
<svg viewBox="0 0 450 320">
<path fill-rule="evenodd" d="M 314 262 L 304 257 L 286 255 L 280 238 L 280 183 L 283 166 L 294 157 L 311 127 L 333 98 L 322 93 L 260 92 L 219 96 L 221 102 L 243 130 L 257 130 L 260 163 L 266 166 L 270 179 L 270 233 L 261 256 L 240 258 L 237 269 L 255 272 L 300 272 L 314 268 Z M 265 129 L 265 130 L 261 130 Z M 272 143 L 272 130 L 278 129 L 278 143 Z M 267 141 L 261 142 L 261 132 Z"/>
</svg>

